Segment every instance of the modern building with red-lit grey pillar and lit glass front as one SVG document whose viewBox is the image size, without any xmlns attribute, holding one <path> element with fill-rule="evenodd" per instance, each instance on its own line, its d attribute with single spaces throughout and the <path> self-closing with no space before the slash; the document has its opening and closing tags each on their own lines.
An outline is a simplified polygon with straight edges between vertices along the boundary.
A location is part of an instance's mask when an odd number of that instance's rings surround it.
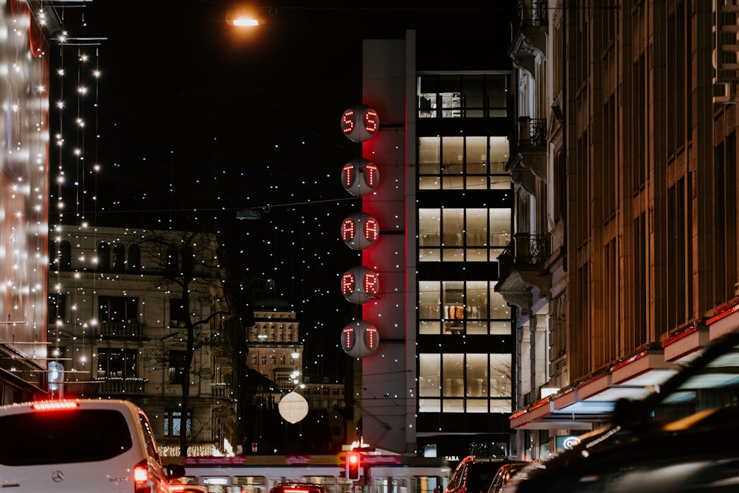
<svg viewBox="0 0 739 493">
<path fill-rule="evenodd" d="M 380 343 L 361 359 L 361 434 L 401 454 L 509 455 L 516 358 L 496 285 L 513 231 L 512 64 L 421 31 L 364 41 L 361 103 L 380 123 L 362 143 L 379 175 L 362 211 L 380 233 L 362 251 L 379 289 L 361 308 Z M 468 55 L 435 46 L 454 42 Z"/>
</svg>

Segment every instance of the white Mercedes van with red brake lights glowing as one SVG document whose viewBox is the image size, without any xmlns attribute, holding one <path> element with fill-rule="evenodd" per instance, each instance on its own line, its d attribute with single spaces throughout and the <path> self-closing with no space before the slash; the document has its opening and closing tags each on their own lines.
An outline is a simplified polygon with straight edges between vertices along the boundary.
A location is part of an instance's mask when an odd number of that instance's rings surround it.
<svg viewBox="0 0 739 493">
<path fill-rule="evenodd" d="M 149 419 L 129 401 L 0 406 L 0 490 L 170 493 Z"/>
</svg>

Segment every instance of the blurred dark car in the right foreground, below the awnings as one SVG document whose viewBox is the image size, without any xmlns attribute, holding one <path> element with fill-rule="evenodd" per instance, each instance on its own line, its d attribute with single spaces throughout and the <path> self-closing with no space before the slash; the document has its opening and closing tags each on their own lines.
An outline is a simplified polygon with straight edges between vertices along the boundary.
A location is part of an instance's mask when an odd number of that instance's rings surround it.
<svg viewBox="0 0 739 493">
<path fill-rule="evenodd" d="M 729 333 L 613 424 L 515 475 L 506 493 L 739 491 L 739 332 Z"/>
</svg>

